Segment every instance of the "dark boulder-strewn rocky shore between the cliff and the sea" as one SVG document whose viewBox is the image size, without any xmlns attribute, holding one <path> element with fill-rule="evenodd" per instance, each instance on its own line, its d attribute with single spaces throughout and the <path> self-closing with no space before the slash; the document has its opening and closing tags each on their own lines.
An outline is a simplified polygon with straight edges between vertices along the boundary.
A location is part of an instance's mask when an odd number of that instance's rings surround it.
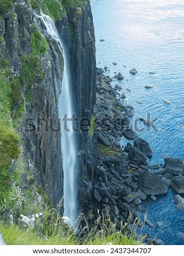
<svg viewBox="0 0 184 256">
<path fill-rule="evenodd" d="M 132 227 L 135 221 L 138 227 L 148 225 L 154 227 L 156 223 L 144 221 L 140 218 L 144 200 L 156 200 L 163 196 L 171 187 L 177 194 L 183 193 L 184 172 L 183 162 L 179 159 L 164 159 L 164 164 L 149 166 L 152 150 L 144 139 L 130 127 L 134 108 L 125 102 L 125 94 L 116 97 L 122 87 L 111 87 L 112 78 L 107 75 L 107 69 L 97 68 L 95 132 L 97 133 L 97 165 L 95 166 L 95 181 L 93 204 L 90 210 L 96 209 L 104 215 L 116 220 L 120 228 L 121 223 L 128 222 Z M 121 74 L 118 74 L 121 77 Z M 119 79 L 116 76 L 117 79 Z M 123 79 L 122 77 L 120 79 Z M 121 138 L 130 139 L 125 147 L 120 146 Z M 184 209 L 182 197 L 175 196 L 177 207 Z M 118 216 L 117 216 L 118 212 Z M 144 234 L 145 235 L 145 234 Z M 149 237 L 146 243 L 161 244 L 162 240 Z"/>
</svg>

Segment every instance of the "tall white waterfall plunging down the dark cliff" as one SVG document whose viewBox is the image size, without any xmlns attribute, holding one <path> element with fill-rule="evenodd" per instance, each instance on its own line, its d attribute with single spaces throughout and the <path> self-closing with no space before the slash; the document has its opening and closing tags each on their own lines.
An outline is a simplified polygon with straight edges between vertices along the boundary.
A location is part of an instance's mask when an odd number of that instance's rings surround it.
<svg viewBox="0 0 184 256">
<path fill-rule="evenodd" d="M 36 15 L 38 17 L 38 15 Z M 71 75 L 70 75 L 70 65 L 69 65 L 69 55 L 66 51 L 66 48 L 63 44 L 63 41 L 57 31 L 57 28 L 53 20 L 41 13 L 39 16 L 42 23 L 45 25 L 45 30 L 48 36 L 51 39 L 54 39 L 57 42 L 59 51 L 64 58 L 64 71 L 63 71 L 63 80 L 62 80 L 62 92 L 59 90 L 59 84 L 61 83 L 61 77 L 59 78 L 56 75 L 56 65 L 59 65 L 59 57 L 57 51 L 54 50 L 54 55 L 56 56 L 57 63 L 54 66 L 54 83 L 56 86 L 57 98 L 58 98 L 58 114 L 61 118 L 61 127 L 62 127 L 62 161 L 63 161 L 63 172 L 64 172 L 64 216 L 69 217 L 70 224 L 73 224 L 77 218 L 77 188 L 76 188 L 76 134 L 72 130 L 72 121 L 68 121 L 67 128 L 65 130 L 65 125 L 63 118 L 67 114 L 68 118 L 72 118 L 72 114 L 75 113 L 73 107 L 73 99 L 71 92 Z M 60 72 L 62 72 L 61 68 Z M 61 73 L 62 74 L 62 73 Z M 70 130 L 70 131 L 69 131 Z"/>
</svg>

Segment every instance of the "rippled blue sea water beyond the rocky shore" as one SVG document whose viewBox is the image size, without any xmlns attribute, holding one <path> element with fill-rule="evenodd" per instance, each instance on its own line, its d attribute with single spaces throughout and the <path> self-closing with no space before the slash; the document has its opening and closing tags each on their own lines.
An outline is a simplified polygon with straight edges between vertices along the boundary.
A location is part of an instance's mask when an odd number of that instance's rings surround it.
<svg viewBox="0 0 184 256">
<path fill-rule="evenodd" d="M 112 86 L 121 85 L 126 102 L 134 106 L 133 125 L 149 113 L 151 120 L 158 119 L 154 123 L 157 131 L 138 123 L 144 129 L 139 137 L 148 141 L 154 152 L 150 163 L 163 163 L 164 155 L 184 161 L 184 1 L 90 2 L 97 66 L 107 65 L 111 77 L 114 72 L 124 75 L 122 82 L 114 81 Z M 129 72 L 133 68 L 136 75 Z M 150 84 L 154 88 L 146 89 Z M 122 144 L 126 142 L 122 139 Z M 154 228 L 143 231 L 161 238 L 165 245 L 184 245 L 184 211 L 177 210 L 173 198 L 174 192 L 169 190 L 167 196 L 143 204 L 154 223 Z M 158 228 L 157 221 L 163 226 Z"/>
</svg>

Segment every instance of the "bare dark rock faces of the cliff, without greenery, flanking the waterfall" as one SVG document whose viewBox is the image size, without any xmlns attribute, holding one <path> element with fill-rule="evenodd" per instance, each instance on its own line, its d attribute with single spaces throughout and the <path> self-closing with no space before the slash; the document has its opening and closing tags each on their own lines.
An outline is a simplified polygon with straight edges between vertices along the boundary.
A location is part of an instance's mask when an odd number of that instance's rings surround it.
<svg viewBox="0 0 184 256">
<path fill-rule="evenodd" d="M 82 12 L 69 15 L 56 25 L 62 35 L 70 55 L 71 74 L 73 81 L 73 97 L 76 102 L 78 118 L 91 118 L 95 103 L 96 63 L 95 63 L 95 36 L 90 3 L 84 5 Z M 0 21 L 0 35 L 5 39 L 2 46 L 5 58 L 10 62 L 14 76 L 22 72 L 22 56 L 29 56 L 32 52 L 31 35 L 34 30 L 34 10 L 25 1 L 17 1 L 14 5 L 13 17 L 9 14 Z M 75 18 L 75 19 L 74 19 Z M 73 27 L 73 34 L 69 33 L 69 26 Z M 36 25 L 38 26 L 38 25 Z M 39 30 L 42 25 L 39 24 Z M 50 118 L 53 118 L 54 129 L 60 128 L 58 120 L 58 107 L 56 88 L 54 85 L 54 54 L 52 40 L 47 38 L 48 51 L 41 54 L 41 70 L 45 73 L 42 79 L 34 79 L 29 88 L 31 100 L 26 102 L 26 116 L 32 118 L 22 125 L 24 142 L 24 155 L 29 166 L 34 168 L 35 178 L 46 194 L 51 198 L 54 208 L 63 197 L 63 169 L 61 153 L 61 134 L 52 132 Z M 60 56 L 60 67 L 64 66 L 63 57 Z M 55 67 L 56 68 L 56 67 Z M 61 77 L 62 79 L 62 77 Z M 27 88 L 22 89 L 26 97 Z M 21 96 L 21 95 L 20 95 Z M 37 118 L 37 119 L 36 119 Z M 30 119 L 29 119 L 30 120 Z M 30 124 L 31 123 L 31 124 Z M 25 128 L 34 131 L 25 131 Z M 34 129 L 36 128 L 36 129 Z M 45 130 L 47 129 L 48 130 Z M 79 201 L 86 206 L 91 197 L 94 150 L 96 136 L 90 138 L 89 133 L 78 132 L 78 166 L 79 166 Z M 77 171 L 77 170 L 76 170 Z M 63 209 L 62 211 L 63 212 Z"/>
</svg>

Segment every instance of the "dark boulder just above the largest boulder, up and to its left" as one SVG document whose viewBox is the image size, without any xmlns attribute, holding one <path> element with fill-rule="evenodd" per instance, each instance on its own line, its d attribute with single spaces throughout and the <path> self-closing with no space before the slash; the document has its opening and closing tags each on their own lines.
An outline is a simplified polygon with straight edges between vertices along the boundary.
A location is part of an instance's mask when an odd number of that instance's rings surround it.
<svg viewBox="0 0 184 256">
<path fill-rule="evenodd" d="M 128 151 L 128 160 L 133 164 L 148 164 L 148 157 L 136 147 L 125 147 Z"/>
</svg>

